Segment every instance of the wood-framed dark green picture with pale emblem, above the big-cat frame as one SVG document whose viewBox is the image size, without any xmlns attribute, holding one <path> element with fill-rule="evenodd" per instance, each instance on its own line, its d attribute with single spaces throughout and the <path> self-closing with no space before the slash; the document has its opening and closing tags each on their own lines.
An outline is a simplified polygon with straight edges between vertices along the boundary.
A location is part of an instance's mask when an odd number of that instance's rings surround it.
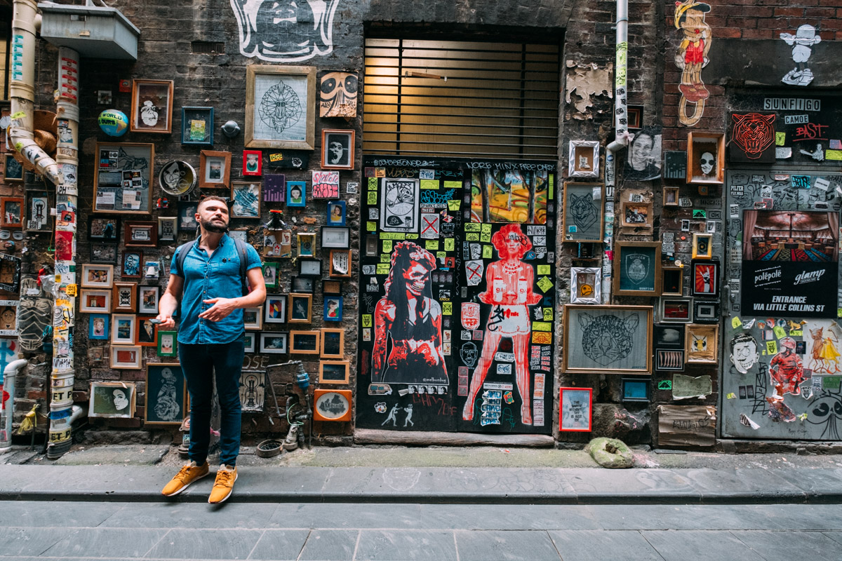
<svg viewBox="0 0 842 561">
<path fill-rule="evenodd" d="M 614 245 L 614 294 L 661 294 L 661 242 L 617 241 Z"/>
</svg>

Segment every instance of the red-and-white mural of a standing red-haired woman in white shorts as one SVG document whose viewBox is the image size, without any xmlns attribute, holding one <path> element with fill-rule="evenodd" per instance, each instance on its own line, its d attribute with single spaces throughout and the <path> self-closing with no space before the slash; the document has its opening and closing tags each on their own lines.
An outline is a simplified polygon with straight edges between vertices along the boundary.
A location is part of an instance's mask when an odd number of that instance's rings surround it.
<svg viewBox="0 0 842 561">
<path fill-rule="evenodd" d="M 486 323 L 482 356 L 471 378 L 462 419 L 472 421 L 474 401 L 494 360 L 500 340 L 511 337 L 514 344 L 515 381 L 520 394 L 520 421 L 532 424 L 530 407 L 529 338 L 531 331 L 530 310 L 527 306 L 541 301 L 541 295 L 532 291 L 535 273 L 529 264 L 520 261 L 532 242 L 524 235 L 519 224 L 504 225 L 491 236 L 491 243 L 497 249 L 498 261 L 488 265 L 485 273 L 486 290 L 479 295 L 483 304 L 491 304 L 491 313 Z"/>
</svg>

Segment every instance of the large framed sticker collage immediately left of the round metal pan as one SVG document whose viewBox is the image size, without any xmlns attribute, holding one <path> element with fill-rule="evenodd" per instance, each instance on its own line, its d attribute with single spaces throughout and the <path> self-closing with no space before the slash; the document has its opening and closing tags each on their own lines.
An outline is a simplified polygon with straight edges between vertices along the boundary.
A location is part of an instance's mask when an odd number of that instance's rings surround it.
<svg viewBox="0 0 842 561">
<path fill-rule="evenodd" d="M 152 212 L 155 146 L 130 142 L 98 142 L 96 155 L 93 167 L 93 212 Z"/>
</svg>

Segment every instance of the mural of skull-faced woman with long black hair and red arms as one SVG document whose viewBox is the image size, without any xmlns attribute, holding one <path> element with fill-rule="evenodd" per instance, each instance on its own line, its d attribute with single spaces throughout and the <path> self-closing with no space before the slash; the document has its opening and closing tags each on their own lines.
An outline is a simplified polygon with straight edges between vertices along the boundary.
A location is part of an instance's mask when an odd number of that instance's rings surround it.
<svg viewBox="0 0 842 561">
<path fill-rule="evenodd" d="M 374 311 L 371 384 L 448 385 L 441 340 L 441 306 L 433 299 L 432 253 L 412 241 L 397 243 L 386 295 Z M 386 358 L 388 341 L 391 350 Z"/>
</svg>

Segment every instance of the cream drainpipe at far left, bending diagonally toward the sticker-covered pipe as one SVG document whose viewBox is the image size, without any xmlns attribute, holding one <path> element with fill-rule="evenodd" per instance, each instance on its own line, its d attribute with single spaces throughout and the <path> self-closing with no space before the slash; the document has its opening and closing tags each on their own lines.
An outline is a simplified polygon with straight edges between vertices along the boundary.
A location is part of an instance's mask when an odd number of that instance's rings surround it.
<svg viewBox="0 0 842 561">
<path fill-rule="evenodd" d="M 9 97 L 12 101 L 12 124 L 8 142 L 31 162 L 50 183 L 61 183 L 58 164 L 35 144 L 35 31 L 38 24 L 35 0 L 14 0 L 12 15 L 12 56 Z"/>
</svg>

